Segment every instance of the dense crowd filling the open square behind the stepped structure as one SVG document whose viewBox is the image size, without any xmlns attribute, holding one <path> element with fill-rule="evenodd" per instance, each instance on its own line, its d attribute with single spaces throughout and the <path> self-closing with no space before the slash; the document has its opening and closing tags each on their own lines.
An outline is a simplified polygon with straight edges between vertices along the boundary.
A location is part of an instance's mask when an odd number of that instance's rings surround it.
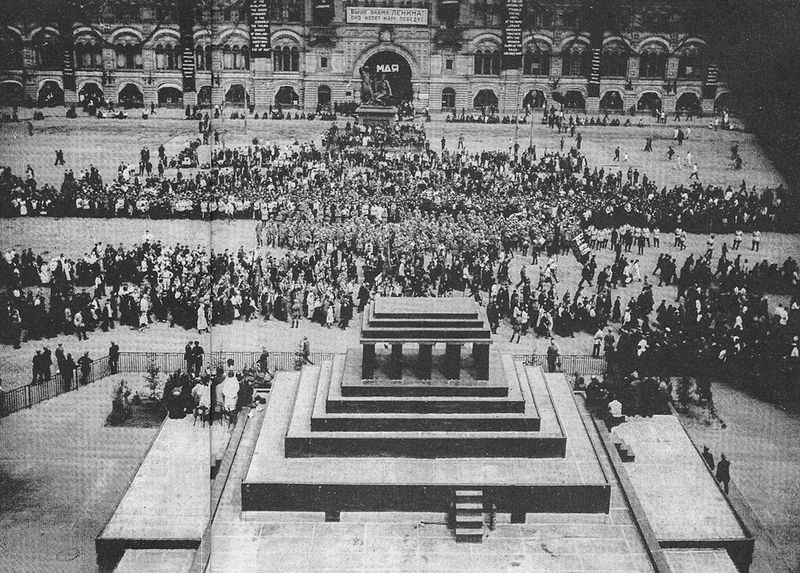
<svg viewBox="0 0 800 573">
<path fill-rule="evenodd" d="M 551 120 L 573 133 L 578 125 Z M 256 249 L 215 252 L 146 236 L 132 246 L 95 245 L 77 260 L 9 251 L 0 261 L 4 342 L 85 339 L 96 328 L 154 321 L 199 332 L 256 318 L 347 328 L 371 297 L 459 292 L 487 306 L 493 331 L 508 320 L 512 340 L 587 332 L 596 355 L 602 348 L 636 372 L 689 364 L 677 360 L 684 355 L 703 367 L 796 357 L 797 262 L 756 258 L 762 230 L 796 227 L 783 187 L 696 181 L 659 189 L 633 168 L 590 169 L 579 148 L 468 153 L 461 141 L 455 151 L 443 141 L 436 153 L 420 145 L 425 132 L 415 124 L 334 125 L 325 142 L 216 149 L 191 177 L 180 165 L 198 162 L 199 143 L 171 161 L 161 147 L 158 164 L 178 169 L 171 178 L 161 169 L 152 175 L 143 149 L 138 166 L 121 165 L 114 181 L 90 166 L 68 172 L 58 190 L 39 187 L 32 169 L 24 177 L 4 170 L 6 215 L 248 218 L 257 240 Z M 404 145 L 414 150 L 386 149 Z M 679 267 L 665 249 L 685 248 L 687 232 L 708 233 L 707 249 Z M 730 247 L 717 245 L 719 232 L 735 233 Z M 573 248 L 584 268 L 563 292 L 557 255 Z M 614 263 L 598 268 L 592 252 L 605 248 Z M 645 249 L 662 253 L 652 271 L 640 266 Z M 518 282 L 509 271 L 515 256 L 526 261 Z M 652 273 L 677 286 L 676 304 L 656 305 Z M 639 282 L 637 297 L 614 296 Z M 789 294 L 789 304 L 771 311 L 768 292 Z"/>
</svg>

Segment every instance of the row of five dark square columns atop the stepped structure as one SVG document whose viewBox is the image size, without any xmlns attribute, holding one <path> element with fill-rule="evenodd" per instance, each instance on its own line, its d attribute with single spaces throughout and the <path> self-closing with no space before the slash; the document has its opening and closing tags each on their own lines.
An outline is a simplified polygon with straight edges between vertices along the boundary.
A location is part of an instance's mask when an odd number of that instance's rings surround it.
<svg viewBox="0 0 800 573">
<path fill-rule="evenodd" d="M 433 373 L 433 344 L 419 345 L 419 377 L 421 380 L 430 380 Z M 447 343 L 445 349 L 444 374 L 448 380 L 461 378 L 461 347 L 463 344 Z M 489 379 L 489 344 L 472 343 L 472 357 L 475 359 L 478 380 Z M 392 354 L 389 360 L 389 378 L 399 380 L 402 377 L 403 344 L 392 344 Z M 372 380 L 375 378 L 375 344 L 362 344 L 361 378 Z"/>
</svg>

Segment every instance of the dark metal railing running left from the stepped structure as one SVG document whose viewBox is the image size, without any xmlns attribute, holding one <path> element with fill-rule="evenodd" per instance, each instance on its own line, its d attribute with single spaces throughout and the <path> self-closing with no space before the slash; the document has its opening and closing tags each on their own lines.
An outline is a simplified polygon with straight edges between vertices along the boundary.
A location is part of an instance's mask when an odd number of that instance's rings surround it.
<svg viewBox="0 0 800 573">
<path fill-rule="evenodd" d="M 234 361 L 237 370 L 255 366 L 261 357 L 260 352 L 209 352 L 203 356 L 203 367 L 216 369 L 225 366 L 229 358 Z M 323 360 L 332 360 L 333 354 L 312 352 L 310 359 L 315 364 Z M 80 367 L 75 369 L 72 376 L 64 377 L 63 373 L 55 374 L 41 382 L 30 383 L 13 390 L 0 393 L 0 418 L 25 410 L 64 394 L 78 387 L 91 384 L 110 374 L 118 372 L 147 372 L 150 365 L 158 367 L 160 372 L 170 374 L 176 370 L 186 370 L 187 364 L 183 352 L 120 352 L 116 372 L 112 372 L 108 356 L 94 360 L 89 366 L 89 372 L 84 376 Z M 271 352 L 269 355 L 270 370 L 291 371 L 299 370 L 302 359 L 294 352 Z"/>
</svg>

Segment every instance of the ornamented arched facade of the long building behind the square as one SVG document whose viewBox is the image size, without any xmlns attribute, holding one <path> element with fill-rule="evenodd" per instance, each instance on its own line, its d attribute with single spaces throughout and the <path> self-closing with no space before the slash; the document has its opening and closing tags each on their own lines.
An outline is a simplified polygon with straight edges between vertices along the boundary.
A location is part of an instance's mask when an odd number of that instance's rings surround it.
<svg viewBox="0 0 800 573">
<path fill-rule="evenodd" d="M 0 28 L 0 105 L 269 105 L 358 98 L 359 70 L 431 111 L 711 113 L 731 94 L 688 0 L 190 0 Z M 611 0 L 606 2 L 608 5 Z"/>
</svg>

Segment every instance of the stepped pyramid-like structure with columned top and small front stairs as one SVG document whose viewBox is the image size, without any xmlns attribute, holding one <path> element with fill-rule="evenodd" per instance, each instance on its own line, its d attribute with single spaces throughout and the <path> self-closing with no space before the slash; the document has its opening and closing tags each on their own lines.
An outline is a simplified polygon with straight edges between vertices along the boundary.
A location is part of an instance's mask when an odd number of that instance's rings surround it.
<svg viewBox="0 0 800 573">
<path fill-rule="evenodd" d="M 242 511 L 608 513 L 611 486 L 563 375 L 491 351 L 470 299 L 383 298 L 361 348 L 276 381 Z"/>
</svg>

